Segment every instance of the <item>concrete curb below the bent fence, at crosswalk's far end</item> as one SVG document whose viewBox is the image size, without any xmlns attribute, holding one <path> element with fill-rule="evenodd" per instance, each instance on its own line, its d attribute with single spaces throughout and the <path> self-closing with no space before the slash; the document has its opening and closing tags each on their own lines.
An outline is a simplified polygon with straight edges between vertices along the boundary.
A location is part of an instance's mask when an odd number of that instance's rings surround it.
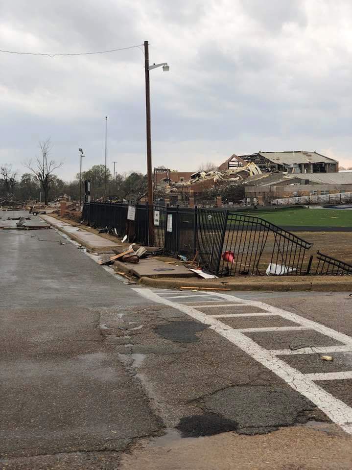
<svg viewBox="0 0 352 470">
<path fill-rule="evenodd" d="M 226 279 L 226 278 L 225 278 Z M 232 280 L 231 280 L 232 281 Z M 340 281 L 336 282 L 335 280 L 322 280 L 321 282 L 306 282 L 306 281 L 261 281 L 258 279 L 256 282 L 202 282 L 196 280 L 195 282 L 190 282 L 189 280 L 179 280 L 179 279 L 152 279 L 148 277 L 141 277 L 139 282 L 148 287 L 159 287 L 159 288 L 168 288 L 168 289 L 179 289 L 182 287 L 194 287 L 195 289 L 202 289 L 203 287 L 213 287 L 216 288 L 226 288 L 229 290 L 236 291 L 275 291 L 275 292 L 346 292 L 352 291 L 352 279 L 351 281 Z"/>
</svg>

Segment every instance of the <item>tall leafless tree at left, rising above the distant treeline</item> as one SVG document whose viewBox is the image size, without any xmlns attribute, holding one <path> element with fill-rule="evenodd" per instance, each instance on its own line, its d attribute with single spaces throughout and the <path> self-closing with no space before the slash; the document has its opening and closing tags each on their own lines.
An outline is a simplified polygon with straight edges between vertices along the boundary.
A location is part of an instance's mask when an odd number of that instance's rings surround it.
<svg viewBox="0 0 352 470">
<path fill-rule="evenodd" d="M 52 181 L 52 172 L 62 166 L 63 162 L 57 163 L 55 160 L 50 160 L 49 155 L 52 150 L 52 144 L 50 139 L 39 142 L 39 148 L 41 155 L 36 158 L 36 161 L 32 163 L 31 160 L 24 163 L 24 166 L 28 168 L 32 173 L 35 174 L 38 181 L 40 182 L 44 191 L 44 202 L 47 205 L 48 195 L 50 191 L 50 184 Z"/>
</svg>

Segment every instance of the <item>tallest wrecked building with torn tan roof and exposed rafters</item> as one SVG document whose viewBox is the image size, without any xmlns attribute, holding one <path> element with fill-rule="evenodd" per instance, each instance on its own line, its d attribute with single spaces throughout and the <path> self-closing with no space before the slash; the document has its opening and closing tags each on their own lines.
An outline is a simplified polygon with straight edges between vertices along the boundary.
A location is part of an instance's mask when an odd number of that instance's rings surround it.
<svg viewBox="0 0 352 470">
<path fill-rule="evenodd" d="M 338 162 L 318 152 L 289 151 L 262 152 L 249 155 L 233 154 L 219 166 L 220 169 L 231 169 L 255 163 L 262 172 L 282 171 L 292 174 L 337 173 Z"/>
</svg>

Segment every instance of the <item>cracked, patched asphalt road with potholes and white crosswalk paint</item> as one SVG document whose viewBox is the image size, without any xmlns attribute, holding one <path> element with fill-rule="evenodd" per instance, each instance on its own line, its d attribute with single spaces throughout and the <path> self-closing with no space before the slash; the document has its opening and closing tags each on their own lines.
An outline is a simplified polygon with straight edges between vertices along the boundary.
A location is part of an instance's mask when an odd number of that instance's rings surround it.
<svg viewBox="0 0 352 470">
<path fill-rule="evenodd" d="M 0 269 L 0 469 L 351 469 L 349 293 L 139 288 L 53 230 Z"/>
</svg>

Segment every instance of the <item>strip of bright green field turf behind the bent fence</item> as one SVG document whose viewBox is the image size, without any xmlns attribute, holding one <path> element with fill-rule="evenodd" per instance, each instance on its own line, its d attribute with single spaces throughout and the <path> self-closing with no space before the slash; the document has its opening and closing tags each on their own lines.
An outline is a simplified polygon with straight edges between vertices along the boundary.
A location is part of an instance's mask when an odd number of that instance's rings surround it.
<svg viewBox="0 0 352 470">
<path fill-rule="evenodd" d="M 277 211 L 251 211 L 279 226 L 352 227 L 352 210 L 295 208 Z"/>
</svg>

